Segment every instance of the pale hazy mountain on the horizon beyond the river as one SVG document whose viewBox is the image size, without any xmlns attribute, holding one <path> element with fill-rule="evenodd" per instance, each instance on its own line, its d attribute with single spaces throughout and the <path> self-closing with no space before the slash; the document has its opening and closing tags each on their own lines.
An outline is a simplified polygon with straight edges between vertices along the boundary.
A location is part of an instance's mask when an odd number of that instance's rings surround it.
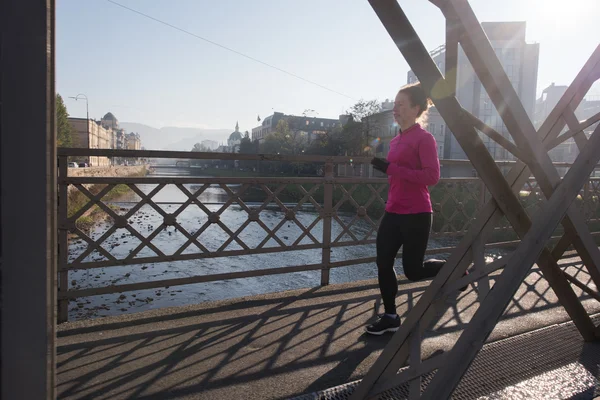
<svg viewBox="0 0 600 400">
<path fill-rule="evenodd" d="M 142 139 L 142 146 L 147 150 L 180 150 L 190 151 L 194 144 L 202 140 L 214 140 L 219 143 L 227 141 L 232 129 L 201 129 L 165 126 L 160 129 L 136 122 L 119 122 L 119 126 L 127 132 L 137 132 Z"/>
</svg>

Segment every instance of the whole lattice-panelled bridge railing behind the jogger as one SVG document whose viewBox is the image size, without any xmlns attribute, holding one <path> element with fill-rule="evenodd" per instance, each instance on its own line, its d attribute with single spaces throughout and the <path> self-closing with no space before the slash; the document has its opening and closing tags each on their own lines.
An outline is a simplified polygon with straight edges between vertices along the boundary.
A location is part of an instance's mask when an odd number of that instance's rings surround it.
<svg viewBox="0 0 600 400">
<path fill-rule="evenodd" d="M 71 177 L 67 161 L 73 156 L 187 158 L 192 165 L 200 160 L 241 160 L 252 165 L 297 163 L 312 165 L 314 174 Z M 69 300 L 87 296 L 315 270 L 321 272 L 320 284 L 327 285 L 334 268 L 374 263 L 374 248 L 354 253 L 360 256 L 352 256 L 350 251 L 345 257 L 332 258 L 339 249 L 368 248 L 375 243 L 385 209 L 387 179 L 340 177 L 336 173 L 340 165 L 368 165 L 369 161 L 370 157 L 59 149 L 59 320 L 67 320 Z M 468 161 L 443 160 L 442 164 L 462 165 Z M 498 164 L 509 166 L 512 162 Z M 294 175 L 293 167 L 289 171 Z M 163 191 L 176 200 L 161 200 Z M 520 195 L 529 213 L 543 203 L 533 180 Z M 599 197 L 600 181 L 591 177 L 578 201 L 596 233 L 600 233 Z M 439 240 L 427 253 L 447 254 L 489 195 L 478 178 L 447 178 L 431 188 L 431 198 L 432 238 Z M 557 230 L 554 236 L 558 238 L 560 233 Z M 485 247 L 506 248 L 517 243 L 518 237 L 504 222 Z M 294 265 L 276 265 L 281 259 L 278 255 L 292 252 L 304 255 L 299 255 Z M 154 263 L 262 254 L 273 255 L 276 266 L 208 274 L 190 271 L 188 276 L 169 279 L 142 276 L 135 283 L 113 281 L 85 288 L 69 280 L 71 271 L 95 275 L 94 271 L 102 271 L 99 274 L 119 266 L 133 271 L 134 266 Z M 301 259 L 306 254 L 310 255 L 308 262 Z M 138 267 L 135 270 L 143 274 Z"/>
</svg>

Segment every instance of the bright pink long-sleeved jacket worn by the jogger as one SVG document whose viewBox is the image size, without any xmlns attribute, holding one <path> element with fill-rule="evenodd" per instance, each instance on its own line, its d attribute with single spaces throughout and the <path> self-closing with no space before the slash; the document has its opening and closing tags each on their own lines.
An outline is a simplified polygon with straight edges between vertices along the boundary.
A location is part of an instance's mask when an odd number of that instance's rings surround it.
<svg viewBox="0 0 600 400">
<path fill-rule="evenodd" d="M 415 124 L 390 142 L 387 169 L 390 188 L 385 210 L 393 214 L 432 212 L 427 186 L 440 180 L 433 135 Z"/>
</svg>

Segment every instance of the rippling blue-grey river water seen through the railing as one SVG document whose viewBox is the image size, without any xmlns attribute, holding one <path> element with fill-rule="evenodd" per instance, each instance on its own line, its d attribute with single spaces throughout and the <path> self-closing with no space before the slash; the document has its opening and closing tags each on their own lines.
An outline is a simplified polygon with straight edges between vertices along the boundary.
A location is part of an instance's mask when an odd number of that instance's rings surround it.
<svg viewBox="0 0 600 400">
<path fill-rule="evenodd" d="M 153 176 L 173 177 L 180 176 L 179 174 L 181 174 L 181 172 L 177 170 L 161 170 L 160 175 L 157 174 Z M 137 186 L 146 194 L 150 193 L 155 188 L 155 185 L 151 184 L 141 184 Z M 185 185 L 185 187 L 193 193 L 199 188 L 199 185 L 188 184 Z M 235 192 L 237 187 L 231 185 L 230 189 Z M 188 197 L 176 186 L 167 185 L 152 199 L 159 203 L 159 206 L 163 210 L 172 213 L 179 208 L 180 204 L 177 203 L 185 202 L 188 200 Z M 222 207 L 223 203 L 229 199 L 229 196 L 222 188 L 210 187 L 200 195 L 199 199 L 203 204 L 206 204 L 206 207 L 210 211 L 215 212 Z M 134 207 L 139 200 L 139 196 L 130 193 L 125 198 L 121 198 L 118 202 L 113 202 L 111 205 L 115 207 L 120 214 L 124 214 Z M 259 204 L 256 204 L 255 206 L 259 206 Z M 339 213 L 339 215 L 344 223 L 348 223 L 353 218 L 353 215 L 348 213 Z M 266 210 L 261 212 L 260 216 L 261 220 L 269 227 L 269 229 L 274 229 L 285 219 L 285 215 L 279 210 L 279 207 L 275 203 L 271 203 Z M 296 217 L 305 227 L 308 227 L 315 219 L 317 219 L 317 212 L 309 204 L 297 212 Z M 236 231 L 247 219 L 247 212 L 236 203 L 229 206 L 221 214 L 221 221 L 232 231 Z M 177 221 L 190 234 L 193 234 L 199 229 L 206 220 L 206 213 L 195 205 L 188 206 L 185 211 L 177 217 Z M 163 217 L 151 206 L 145 205 L 137 211 L 129 221 L 130 225 L 147 237 L 163 222 Z M 112 223 L 109 222 L 97 223 L 88 234 L 92 239 L 96 240 L 111 226 Z M 358 238 L 363 238 L 370 231 L 370 228 L 368 223 L 359 220 L 358 223 L 353 226 L 351 231 Z M 341 229 L 342 227 L 337 222 L 334 222 L 332 226 L 332 237 L 336 238 L 341 232 Z M 321 240 L 322 223 L 317 223 L 310 232 L 316 239 Z M 293 243 L 301 234 L 301 230 L 295 223 L 288 221 L 286 221 L 277 232 L 277 236 L 286 244 Z M 263 241 L 266 235 L 267 233 L 264 229 L 256 222 L 253 222 L 246 227 L 238 237 L 250 248 L 254 248 Z M 229 239 L 229 237 L 230 236 L 221 228 L 213 224 L 200 235 L 198 241 L 207 249 L 214 251 L 221 247 L 224 241 Z M 372 234 L 372 237 L 375 237 L 374 233 Z M 152 243 L 165 254 L 172 254 L 179 249 L 186 240 L 187 239 L 183 234 L 178 232 L 174 227 L 168 227 L 166 230 L 161 231 L 152 240 Z M 312 241 L 308 237 L 304 237 L 300 243 L 310 244 Z M 453 246 L 456 243 L 456 239 L 431 239 L 429 248 Z M 118 229 L 106 239 L 103 243 L 103 248 L 117 258 L 124 258 L 134 250 L 138 244 L 140 244 L 139 239 L 131 235 L 125 229 Z M 265 245 L 267 248 L 273 246 L 278 246 L 278 243 L 273 239 L 270 239 Z M 87 244 L 83 240 L 72 238 L 69 245 L 70 260 L 74 260 L 79 256 L 85 251 L 86 247 Z M 241 247 L 239 244 L 235 243 L 235 241 L 227 247 L 227 250 L 236 249 L 241 249 Z M 196 251 L 198 251 L 197 248 L 192 245 L 184 251 L 183 254 Z M 153 255 L 155 255 L 153 251 L 144 248 L 144 250 L 139 253 L 138 257 Z M 321 256 L 320 249 L 313 249 L 271 254 L 116 266 L 93 270 L 75 270 L 69 273 L 69 284 L 70 289 L 87 289 L 92 287 L 110 286 L 112 284 L 130 284 L 197 275 L 317 264 L 321 262 Z M 374 245 L 339 247 L 333 248 L 331 251 L 332 261 L 374 256 Z M 93 252 L 86 258 L 86 261 L 88 260 L 102 260 L 102 256 L 97 252 Z M 398 273 L 402 272 L 402 263 L 400 260 L 396 263 L 396 271 Z M 318 270 L 306 271 L 79 298 L 72 300 L 69 303 L 69 320 L 117 315 L 154 308 L 195 304 L 205 301 L 315 287 L 320 284 L 320 274 L 321 272 Z M 371 279 L 376 276 L 377 269 L 374 263 L 368 265 L 355 265 L 332 269 L 330 273 L 330 282 L 343 283 Z"/>
</svg>

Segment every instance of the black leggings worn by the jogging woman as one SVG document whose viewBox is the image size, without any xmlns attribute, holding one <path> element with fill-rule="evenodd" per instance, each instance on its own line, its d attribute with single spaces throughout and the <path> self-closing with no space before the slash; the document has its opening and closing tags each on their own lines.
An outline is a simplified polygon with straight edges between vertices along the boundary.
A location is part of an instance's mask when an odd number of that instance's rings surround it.
<svg viewBox="0 0 600 400">
<path fill-rule="evenodd" d="M 398 279 L 394 261 L 400 247 L 404 275 L 411 281 L 432 278 L 444 266 L 443 260 L 427 260 L 423 263 L 431 213 L 391 214 L 386 212 L 377 232 L 377 277 L 383 305 L 387 314 L 396 314 Z"/>
</svg>

